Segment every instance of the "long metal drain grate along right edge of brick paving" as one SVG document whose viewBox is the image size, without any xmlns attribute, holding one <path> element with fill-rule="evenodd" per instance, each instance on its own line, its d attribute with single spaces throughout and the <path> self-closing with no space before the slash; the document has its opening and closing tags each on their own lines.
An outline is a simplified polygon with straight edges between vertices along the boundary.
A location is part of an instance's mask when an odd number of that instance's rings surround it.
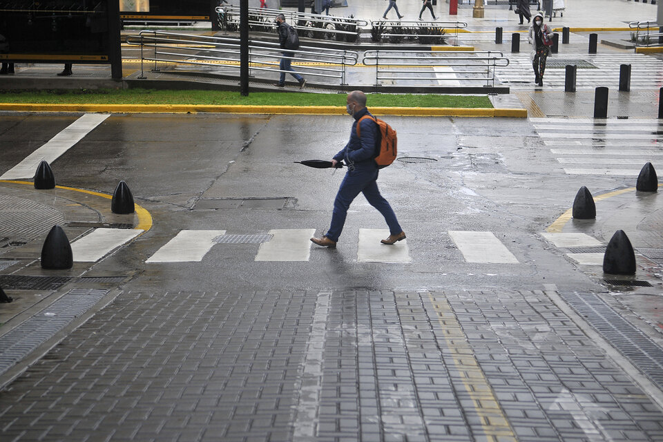
<svg viewBox="0 0 663 442">
<path fill-rule="evenodd" d="M 559 294 L 648 378 L 663 388 L 663 349 L 595 294 Z"/>
</svg>

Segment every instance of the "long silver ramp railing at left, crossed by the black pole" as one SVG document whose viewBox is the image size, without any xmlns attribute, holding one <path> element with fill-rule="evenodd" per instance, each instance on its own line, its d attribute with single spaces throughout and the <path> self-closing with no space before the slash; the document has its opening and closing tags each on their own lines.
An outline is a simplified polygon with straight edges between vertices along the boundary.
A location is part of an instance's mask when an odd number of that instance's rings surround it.
<svg viewBox="0 0 663 442">
<path fill-rule="evenodd" d="M 215 66 L 218 70 L 240 69 L 240 39 L 229 37 L 206 37 L 178 32 L 143 30 L 139 35 L 129 36 L 127 44 L 140 46 L 140 77 L 144 75 L 144 61 L 153 62 L 157 71 L 157 62 L 189 64 L 193 66 Z M 299 50 L 287 50 L 293 57 L 284 57 L 284 50 L 276 43 L 267 41 L 249 41 L 249 76 L 255 77 L 261 72 L 285 72 L 280 70 L 279 61 L 289 58 L 296 61 L 296 72 L 340 80 L 345 85 L 346 68 L 355 66 L 358 53 L 350 50 L 334 50 L 300 46 Z"/>
</svg>

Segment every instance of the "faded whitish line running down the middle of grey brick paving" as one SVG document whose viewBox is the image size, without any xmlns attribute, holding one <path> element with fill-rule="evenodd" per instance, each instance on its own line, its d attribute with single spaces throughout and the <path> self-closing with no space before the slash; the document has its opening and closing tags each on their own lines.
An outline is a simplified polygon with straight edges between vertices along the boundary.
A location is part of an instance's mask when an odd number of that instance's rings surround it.
<svg viewBox="0 0 663 442">
<path fill-rule="evenodd" d="M 315 233 L 315 231 L 314 231 Z M 311 234 L 314 234 L 311 233 Z M 323 381 L 323 360 L 329 317 L 331 291 L 320 291 L 316 299 L 316 308 L 311 323 L 311 333 L 306 340 L 306 352 L 301 381 L 295 391 L 299 392 L 297 416 L 294 419 L 293 441 L 309 442 L 316 439 L 316 429 L 320 413 L 320 392 Z M 296 383 L 296 384 L 297 384 Z"/>
</svg>

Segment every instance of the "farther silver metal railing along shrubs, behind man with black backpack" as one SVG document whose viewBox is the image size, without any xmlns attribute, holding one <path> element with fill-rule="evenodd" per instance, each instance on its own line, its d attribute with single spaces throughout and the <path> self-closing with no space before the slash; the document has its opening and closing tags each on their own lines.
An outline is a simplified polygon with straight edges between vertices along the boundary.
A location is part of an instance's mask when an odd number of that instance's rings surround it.
<svg viewBox="0 0 663 442">
<path fill-rule="evenodd" d="M 240 26 L 240 7 L 227 5 L 217 6 L 222 29 L 235 31 Z M 302 37 L 323 38 L 325 34 L 336 37 L 336 40 L 356 41 L 362 26 L 368 26 L 365 20 L 335 17 L 332 15 L 309 14 L 288 10 L 249 8 L 249 28 L 258 32 L 276 32 L 276 16 L 285 15 L 285 20 L 298 30 Z M 310 34 L 310 35 L 308 35 Z"/>
</svg>

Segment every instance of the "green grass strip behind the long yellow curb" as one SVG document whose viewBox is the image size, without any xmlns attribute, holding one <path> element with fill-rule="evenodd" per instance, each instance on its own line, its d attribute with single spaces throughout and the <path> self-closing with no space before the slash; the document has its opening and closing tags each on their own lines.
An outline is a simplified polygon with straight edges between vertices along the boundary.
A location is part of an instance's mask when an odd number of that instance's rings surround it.
<svg viewBox="0 0 663 442">
<path fill-rule="evenodd" d="M 242 97 L 224 90 L 8 90 L 2 103 L 30 104 L 247 104 L 262 106 L 343 106 L 345 94 L 254 92 Z M 492 108 L 487 96 L 369 94 L 367 106 L 422 108 Z"/>
</svg>

